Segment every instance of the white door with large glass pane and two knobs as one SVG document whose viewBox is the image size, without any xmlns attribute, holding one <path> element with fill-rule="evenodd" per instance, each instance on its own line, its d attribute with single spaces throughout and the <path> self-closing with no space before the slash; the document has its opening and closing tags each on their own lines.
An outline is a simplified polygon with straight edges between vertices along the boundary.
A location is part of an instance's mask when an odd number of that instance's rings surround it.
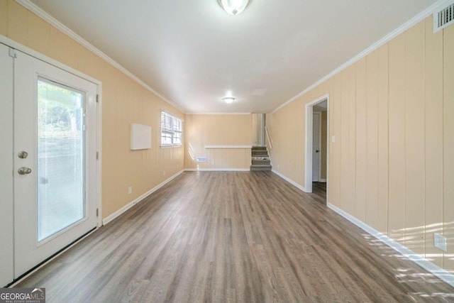
<svg viewBox="0 0 454 303">
<path fill-rule="evenodd" d="M 18 52 L 14 276 L 96 228 L 96 84 Z"/>
</svg>

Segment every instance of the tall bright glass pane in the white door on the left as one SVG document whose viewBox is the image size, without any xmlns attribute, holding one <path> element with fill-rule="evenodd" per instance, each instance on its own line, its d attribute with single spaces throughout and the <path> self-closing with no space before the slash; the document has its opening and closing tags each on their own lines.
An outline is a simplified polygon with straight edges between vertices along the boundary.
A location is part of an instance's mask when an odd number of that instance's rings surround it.
<svg viewBox="0 0 454 303">
<path fill-rule="evenodd" d="M 38 78 L 38 241 L 84 218 L 84 93 Z"/>
</svg>

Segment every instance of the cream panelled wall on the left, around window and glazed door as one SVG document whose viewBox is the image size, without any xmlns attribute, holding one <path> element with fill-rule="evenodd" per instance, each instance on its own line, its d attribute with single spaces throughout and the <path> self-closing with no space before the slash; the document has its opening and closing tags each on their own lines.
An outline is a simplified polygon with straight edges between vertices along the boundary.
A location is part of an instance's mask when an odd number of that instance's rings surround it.
<svg viewBox="0 0 454 303">
<path fill-rule="evenodd" d="M 13 0 L 0 0 L 0 35 L 102 82 L 104 218 L 183 169 L 183 147 L 160 148 L 160 111 L 184 114 Z M 130 150 L 131 123 L 152 126 L 150 150 Z"/>
</svg>

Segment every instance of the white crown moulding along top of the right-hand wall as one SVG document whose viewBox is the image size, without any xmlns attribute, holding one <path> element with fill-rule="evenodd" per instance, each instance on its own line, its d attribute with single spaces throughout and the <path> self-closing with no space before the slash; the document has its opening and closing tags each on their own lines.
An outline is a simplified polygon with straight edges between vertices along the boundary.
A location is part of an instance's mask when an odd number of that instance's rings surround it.
<svg viewBox="0 0 454 303">
<path fill-rule="evenodd" d="M 435 4 L 432 4 L 427 9 L 421 11 L 421 13 L 418 13 L 416 16 L 411 18 L 409 21 L 406 21 L 406 23 L 402 24 L 402 26 L 399 26 L 398 28 L 396 28 L 391 33 L 388 33 L 383 38 L 381 38 L 380 40 L 378 40 L 374 44 L 370 45 L 368 48 L 363 50 L 358 55 L 355 55 L 355 57 L 353 57 L 350 60 L 348 60 L 347 62 L 343 63 L 343 65 L 337 67 L 336 70 L 333 70 L 328 75 L 326 75 L 325 77 L 319 79 L 319 81 L 317 81 L 314 84 L 312 84 L 311 86 L 307 87 L 306 89 L 304 89 L 302 92 L 300 92 L 296 96 L 292 97 L 291 99 L 289 99 L 288 101 L 284 102 L 283 104 L 277 106 L 277 108 L 274 111 L 272 111 L 271 114 L 275 114 L 275 112 L 279 111 L 279 109 L 282 109 L 282 107 L 286 106 L 287 104 L 292 103 L 293 101 L 295 101 L 296 99 L 298 99 L 302 95 L 306 94 L 306 92 L 309 92 L 311 89 L 314 89 L 315 87 L 318 87 L 320 84 L 322 84 L 323 82 L 325 82 L 329 78 L 331 78 L 334 75 L 338 74 L 339 72 L 345 70 L 345 68 L 349 67 L 350 65 L 353 65 L 353 63 L 355 63 L 358 60 L 362 59 L 363 57 L 369 55 L 370 53 L 372 53 L 377 48 L 380 48 L 380 46 L 384 45 L 384 43 L 389 42 L 390 40 L 392 40 L 393 38 L 396 38 L 401 33 L 404 33 L 404 31 L 408 30 L 412 26 L 415 26 L 417 23 L 423 21 L 425 18 L 430 16 L 433 13 L 433 11 L 435 11 L 438 8 L 438 6 L 441 5 L 441 3 L 443 1 L 445 1 L 445 0 L 438 0 Z"/>
</svg>

